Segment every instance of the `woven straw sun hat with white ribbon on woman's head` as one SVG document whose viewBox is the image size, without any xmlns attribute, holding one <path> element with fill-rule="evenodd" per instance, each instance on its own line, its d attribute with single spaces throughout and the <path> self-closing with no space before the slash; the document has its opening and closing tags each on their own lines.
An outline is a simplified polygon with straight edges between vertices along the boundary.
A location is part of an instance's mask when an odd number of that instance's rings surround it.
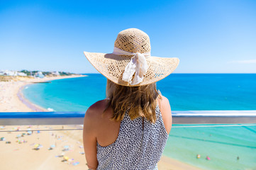
<svg viewBox="0 0 256 170">
<path fill-rule="evenodd" d="M 107 79 L 122 86 L 144 86 L 164 79 L 179 64 L 176 57 L 152 57 L 150 38 L 130 28 L 118 33 L 112 53 L 84 52 L 89 62 Z"/>
</svg>

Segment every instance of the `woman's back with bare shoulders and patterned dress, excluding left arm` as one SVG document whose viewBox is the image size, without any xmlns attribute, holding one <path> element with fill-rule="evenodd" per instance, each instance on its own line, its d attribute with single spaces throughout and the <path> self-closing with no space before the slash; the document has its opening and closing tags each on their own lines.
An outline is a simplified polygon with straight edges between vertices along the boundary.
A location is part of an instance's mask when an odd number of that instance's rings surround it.
<svg viewBox="0 0 256 170">
<path fill-rule="evenodd" d="M 99 165 L 89 166 L 98 169 L 157 169 L 156 164 L 172 126 L 169 101 L 162 96 L 158 103 L 155 123 L 142 117 L 130 120 L 128 112 L 122 121 L 112 121 L 111 107 L 102 114 L 106 100 L 91 106 L 86 119 L 91 124 L 91 132 L 96 135 L 97 160 L 94 162 L 99 162 Z"/>
</svg>

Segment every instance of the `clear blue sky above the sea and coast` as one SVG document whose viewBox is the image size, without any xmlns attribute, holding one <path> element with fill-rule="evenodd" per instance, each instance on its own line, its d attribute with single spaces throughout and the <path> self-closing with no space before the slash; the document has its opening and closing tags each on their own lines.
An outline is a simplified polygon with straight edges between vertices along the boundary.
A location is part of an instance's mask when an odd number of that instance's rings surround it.
<svg viewBox="0 0 256 170">
<path fill-rule="evenodd" d="M 83 51 L 113 52 L 127 28 L 175 73 L 256 73 L 255 0 L 0 0 L 0 70 L 96 73 Z"/>
</svg>

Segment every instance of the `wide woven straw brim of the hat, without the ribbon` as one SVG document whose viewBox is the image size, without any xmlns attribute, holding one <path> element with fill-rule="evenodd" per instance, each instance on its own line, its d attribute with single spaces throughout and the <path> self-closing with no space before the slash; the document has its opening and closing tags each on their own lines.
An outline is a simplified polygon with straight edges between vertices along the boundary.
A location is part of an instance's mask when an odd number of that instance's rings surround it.
<svg viewBox="0 0 256 170">
<path fill-rule="evenodd" d="M 132 86 L 123 81 L 123 72 L 130 58 L 128 55 L 113 55 L 112 53 L 84 52 L 85 57 L 107 79 L 122 86 Z M 179 65 L 177 57 L 148 57 L 148 71 L 140 84 L 133 86 L 145 86 L 164 79 L 171 74 Z"/>
</svg>

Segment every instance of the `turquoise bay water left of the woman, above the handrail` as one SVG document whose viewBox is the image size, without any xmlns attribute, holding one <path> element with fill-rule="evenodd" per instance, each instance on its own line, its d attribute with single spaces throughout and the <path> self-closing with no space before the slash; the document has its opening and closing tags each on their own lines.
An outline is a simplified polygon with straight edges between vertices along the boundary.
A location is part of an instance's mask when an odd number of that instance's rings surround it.
<svg viewBox="0 0 256 170">
<path fill-rule="evenodd" d="M 106 97 L 106 79 L 99 74 L 88 77 L 57 79 L 49 84 L 31 84 L 23 89 L 29 101 L 54 111 L 87 111 Z"/>
</svg>

